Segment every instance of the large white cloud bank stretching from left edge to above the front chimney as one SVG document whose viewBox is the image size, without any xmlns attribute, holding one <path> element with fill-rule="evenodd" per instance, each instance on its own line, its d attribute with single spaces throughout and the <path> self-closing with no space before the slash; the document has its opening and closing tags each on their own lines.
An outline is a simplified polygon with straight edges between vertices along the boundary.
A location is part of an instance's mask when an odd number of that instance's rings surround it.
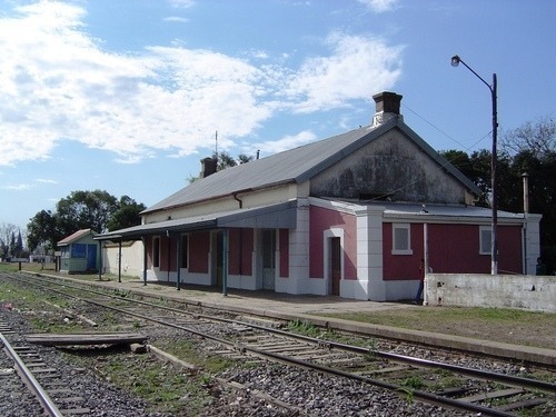
<svg viewBox="0 0 556 417">
<path fill-rule="evenodd" d="M 61 140 L 126 163 L 211 149 L 216 130 L 227 149 L 278 111 L 346 106 L 399 77 L 401 49 L 374 38 L 334 33 L 329 56 L 295 70 L 179 44 L 119 54 L 81 31 L 86 11 L 77 6 L 17 11 L 0 18 L 0 166 L 49 158 Z"/>
</svg>

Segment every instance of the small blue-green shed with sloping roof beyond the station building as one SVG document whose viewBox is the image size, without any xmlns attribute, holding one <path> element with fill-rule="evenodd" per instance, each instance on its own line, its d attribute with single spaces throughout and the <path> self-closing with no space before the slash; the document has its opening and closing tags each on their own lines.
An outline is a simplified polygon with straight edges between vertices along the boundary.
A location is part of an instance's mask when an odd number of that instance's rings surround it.
<svg viewBox="0 0 556 417">
<path fill-rule="evenodd" d="M 96 272 L 99 269 L 99 244 L 95 240 L 98 234 L 91 229 L 81 229 L 58 242 L 60 272 L 82 274 Z"/>
</svg>

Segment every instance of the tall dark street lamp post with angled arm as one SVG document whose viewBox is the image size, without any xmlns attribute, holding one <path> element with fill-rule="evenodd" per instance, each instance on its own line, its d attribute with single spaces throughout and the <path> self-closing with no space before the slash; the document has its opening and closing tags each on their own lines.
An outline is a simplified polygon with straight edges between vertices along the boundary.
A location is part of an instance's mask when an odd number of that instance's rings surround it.
<svg viewBox="0 0 556 417">
<path fill-rule="evenodd" d="M 490 97 L 493 100 L 493 151 L 490 155 L 490 187 L 492 187 L 492 202 L 490 206 L 493 208 L 493 224 L 492 224 L 492 239 L 490 239 L 490 274 L 498 274 L 498 241 L 496 229 L 498 226 L 498 211 L 497 211 L 497 193 L 496 193 L 496 161 L 497 161 L 497 151 L 496 151 L 496 142 L 497 142 L 497 133 L 498 133 L 498 110 L 496 105 L 496 90 L 497 90 L 497 80 L 496 73 L 493 73 L 493 85 L 486 82 L 483 77 L 480 77 L 477 72 L 475 72 L 467 63 L 464 62 L 459 56 L 455 54 L 451 57 L 451 66 L 457 67 L 459 63 L 463 63 L 465 68 L 471 71 L 475 77 L 477 77 L 485 86 L 490 90 Z"/>
</svg>

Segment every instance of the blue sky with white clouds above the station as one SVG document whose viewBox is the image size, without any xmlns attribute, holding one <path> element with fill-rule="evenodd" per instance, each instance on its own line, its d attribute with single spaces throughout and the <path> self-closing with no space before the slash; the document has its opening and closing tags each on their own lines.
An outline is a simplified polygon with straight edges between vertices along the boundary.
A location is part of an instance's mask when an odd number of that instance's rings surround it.
<svg viewBox="0 0 556 417">
<path fill-rule="evenodd" d="M 147 207 L 215 150 L 268 157 L 401 95 L 436 150 L 556 110 L 553 0 L 0 0 L 0 225 L 77 190 Z M 464 66 L 458 54 L 486 83 Z"/>
</svg>

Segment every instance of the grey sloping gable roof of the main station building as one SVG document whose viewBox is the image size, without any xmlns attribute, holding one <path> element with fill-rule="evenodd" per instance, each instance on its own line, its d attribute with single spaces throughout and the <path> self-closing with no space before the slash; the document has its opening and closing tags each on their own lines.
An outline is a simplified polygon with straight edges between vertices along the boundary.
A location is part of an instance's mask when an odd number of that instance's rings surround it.
<svg viewBox="0 0 556 417">
<path fill-rule="evenodd" d="M 147 208 L 142 214 L 285 183 L 301 183 L 322 172 L 357 149 L 381 137 L 390 129 L 398 129 L 404 132 L 471 193 L 476 196 L 480 193 L 477 186 L 404 123 L 401 117 L 394 117 L 378 127 L 361 127 L 328 139 L 220 170 L 209 177 L 198 179 Z"/>
</svg>

